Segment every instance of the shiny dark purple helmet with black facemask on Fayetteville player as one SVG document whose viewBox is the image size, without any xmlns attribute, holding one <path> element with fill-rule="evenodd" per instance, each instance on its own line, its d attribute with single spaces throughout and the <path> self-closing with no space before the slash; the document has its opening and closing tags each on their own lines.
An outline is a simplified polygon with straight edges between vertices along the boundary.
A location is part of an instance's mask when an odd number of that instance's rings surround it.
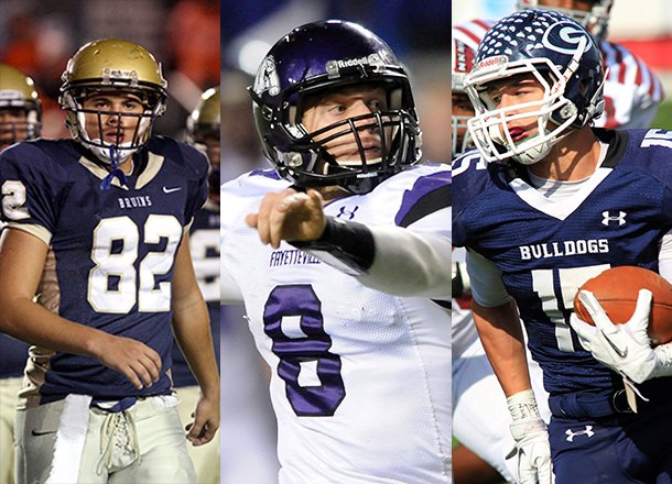
<svg viewBox="0 0 672 484">
<path fill-rule="evenodd" d="M 306 98 L 354 85 L 382 88 L 387 107 L 308 133 L 302 124 Z M 383 41 L 356 23 L 329 20 L 294 29 L 269 51 L 249 92 L 264 154 L 296 186 L 338 185 L 368 193 L 420 160 L 421 133 L 407 73 Z M 380 136 L 379 158 L 367 160 L 364 130 Z M 338 162 L 327 152 L 326 143 L 339 136 L 354 136 L 355 161 Z"/>
</svg>

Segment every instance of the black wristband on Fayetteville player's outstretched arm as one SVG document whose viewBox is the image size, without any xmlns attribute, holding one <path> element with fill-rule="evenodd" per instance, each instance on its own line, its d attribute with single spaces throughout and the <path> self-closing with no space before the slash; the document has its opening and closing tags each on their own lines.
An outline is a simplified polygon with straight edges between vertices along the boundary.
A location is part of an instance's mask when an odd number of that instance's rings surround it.
<svg viewBox="0 0 672 484">
<path fill-rule="evenodd" d="M 296 249 L 312 252 L 329 265 L 343 268 L 345 264 L 353 275 L 367 274 L 376 256 L 373 234 L 364 224 L 327 217 L 322 237 L 311 242 L 291 242 Z M 330 257 L 329 257 L 330 255 Z M 335 264 L 334 258 L 342 264 Z"/>
</svg>

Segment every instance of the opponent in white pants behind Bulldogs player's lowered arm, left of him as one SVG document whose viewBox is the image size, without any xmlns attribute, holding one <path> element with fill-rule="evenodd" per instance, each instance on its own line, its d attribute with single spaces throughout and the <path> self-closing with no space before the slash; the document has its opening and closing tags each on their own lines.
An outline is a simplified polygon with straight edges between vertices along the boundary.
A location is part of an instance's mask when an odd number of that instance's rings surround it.
<svg viewBox="0 0 672 484">
<path fill-rule="evenodd" d="M 473 148 L 467 120 L 474 108 L 464 90 L 464 79 L 474 66 L 476 53 L 453 38 L 452 45 L 452 125 L 453 158 Z M 517 462 L 507 459 L 516 442 L 509 431 L 506 397 L 486 358 L 472 319 L 469 278 L 465 271 L 465 251 L 453 253 L 453 436 L 459 444 L 453 448 L 455 484 L 500 483 L 517 480 Z M 548 395 L 541 370 L 528 361 L 530 376 L 545 421 L 550 418 Z M 483 416 L 487 415 L 488 418 Z"/>
</svg>

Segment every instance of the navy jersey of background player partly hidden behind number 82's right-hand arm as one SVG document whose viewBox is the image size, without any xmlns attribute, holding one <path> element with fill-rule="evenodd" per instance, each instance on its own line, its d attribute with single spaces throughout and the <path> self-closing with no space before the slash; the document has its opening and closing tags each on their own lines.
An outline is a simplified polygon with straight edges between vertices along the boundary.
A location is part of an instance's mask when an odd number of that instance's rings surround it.
<svg viewBox="0 0 672 484">
<path fill-rule="evenodd" d="M 215 356 L 219 364 L 219 205 L 208 201 L 194 215 L 189 249 L 198 287 L 207 304 Z M 197 384 L 177 343 L 173 345 L 173 382 L 178 388 Z"/>
</svg>

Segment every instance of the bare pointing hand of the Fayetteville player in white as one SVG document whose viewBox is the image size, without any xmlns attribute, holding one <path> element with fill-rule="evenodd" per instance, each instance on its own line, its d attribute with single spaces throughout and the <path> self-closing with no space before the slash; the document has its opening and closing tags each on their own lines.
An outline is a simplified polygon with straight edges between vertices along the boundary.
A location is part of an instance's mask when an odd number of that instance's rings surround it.
<svg viewBox="0 0 672 484">
<path fill-rule="evenodd" d="M 273 249 L 280 242 L 306 242 L 319 239 L 326 227 L 324 201 L 316 190 L 306 194 L 288 188 L 281 193 L 267 194 L 258 213 L 249 213 L 247 224 L 256 228 L 263 244 Z"/>
</svg>

